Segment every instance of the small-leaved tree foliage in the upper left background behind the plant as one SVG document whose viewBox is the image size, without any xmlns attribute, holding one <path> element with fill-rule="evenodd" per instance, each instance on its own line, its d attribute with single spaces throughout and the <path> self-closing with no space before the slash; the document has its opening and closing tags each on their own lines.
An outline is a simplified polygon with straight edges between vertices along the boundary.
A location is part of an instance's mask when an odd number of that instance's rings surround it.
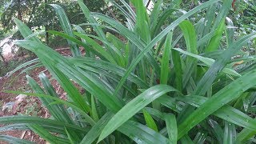
<svg viewBox="0 0 256 144">
<path fill-rule="evenodd" d="M 102 0 L 85 1 L 90 10 L 95 12 L 106 13 L 105 2 Z M 81 24 L 86 22 L 82 17 L 82 10 L 79 8 L 78 3 L 70 0 L 3 0 L 0 3 L 0 18 L 3 30 L 10 33 L 15 28 L 14 17 L 26 23 L 34 32 L 42 30 L 61 30 L 58 18 L 54 13 L 53 8 L 49 5 L 56 3 L 66 10 L 66 15 L 73 22 L 72 24 Z M 21 38 L 19 33 L 14 34 L 14 39 Z M 41 36 L 41 39 L 49 44 L 59 46 L 65 41 L 59 41 L 54 36 L 50 36 L 47 32 Z M 58 42 L 56 44 L 56 42 Z"/>
</svg>

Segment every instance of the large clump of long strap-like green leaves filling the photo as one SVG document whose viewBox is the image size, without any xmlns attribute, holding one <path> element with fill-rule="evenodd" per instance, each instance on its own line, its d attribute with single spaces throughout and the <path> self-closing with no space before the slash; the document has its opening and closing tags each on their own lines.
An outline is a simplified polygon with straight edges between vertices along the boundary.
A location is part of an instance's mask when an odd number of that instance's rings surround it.
<svg viewBox="0 0 256 144">
<path fill-rule="evenodd" d="M 241 49 L 251 48 L 246 44 L 256 34 L 234 36 L 226 17 L 232 1 L 210 0 L 185 12 L 172 6 L 162 10 L 162 1 L 147 11 L 142 0 L 132 0 L 136 13 L 124 0 L 122 6 L 112 2 L 126 17 L 126 26 L 90 12 L 78 0 L 97 35 L 72 27 L 61 6 L 51 5 L 64 32 L 48 32 L 66 38 L 73 54 L 68 58 L 15 19 L 25 38 L 16 44 L 38 56 L 16 70 L 45 66 L 68 100 L 58 98 L 45 74 L 39 74 L 42 87 L 27 75 L 34 93 L 22 94 L 40 98 L 52 118 L 2 117 L 1 124 L 10 124 L 2 130 L 33 130 L 50 143 L 255 142 L 255 55 Z M 198 14 L 202 10 L 206 14 Z M 178 12 L 183 14 L 169 18 Z M 105 34 L 105 29 L 115 34 Z"/>
</svg>

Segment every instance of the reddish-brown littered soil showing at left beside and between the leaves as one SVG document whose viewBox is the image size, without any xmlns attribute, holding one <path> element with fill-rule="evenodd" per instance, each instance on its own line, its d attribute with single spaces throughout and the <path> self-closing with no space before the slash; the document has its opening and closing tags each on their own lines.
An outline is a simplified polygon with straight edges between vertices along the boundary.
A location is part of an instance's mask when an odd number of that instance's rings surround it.
<svg viewBox="0 0 256 144">
<path fill-rule="evenodd" d="M 66 48 L 57 49 L 57 51 L 62 55 L 70 55 L 70 50 Z M 51 77 L 50 73 L 43 67 L 31 70 L 29 75 L 30 77 L 34 78 L 38 83 L 40 83 L 38 74 L 40 74 L 41 72 L 44 72 L 48 78 Z M 18 98 L 18 94 L 6 94 L 3 92 L 4 90 L 15 90 L 22 92 L 30 90 L 30 86 L 28 86 L 26 82 L 26 74 L 19 75 L 19 73 L 20 71 L 16 72 L 9 78 L 0 78 L 0 117 L 24 114 L 30 116 L 38 116 L 41 118 L 49 118 L 50 114 L 48 113 L 46 108 L 42 106 L 42 103 L 38 98 L 28 96 Z M 66 93 L 62 90 L 58 82 L 56 80 L 51 80 L 50 82 L 54 86 L 54 89 L 56 90 L 59 97 L 66 98 Z M 5 109 L 4 107 L 7 106 L 6 104 L 10 103 L 13 104 L 11 108 Z M 1 134 L 26 139 L 29 140 L 30 142 L 35 142 L 38 144 L 46 143 L 46 141 L 40 138 L 37 134 L 34 134 L 34 132 L 31 130 L 10 130 L 2 133 L 0 132 L 0 135 Z M 2 143 L 6 142 L 0 142 L 0 144 Z"/>
</svg>

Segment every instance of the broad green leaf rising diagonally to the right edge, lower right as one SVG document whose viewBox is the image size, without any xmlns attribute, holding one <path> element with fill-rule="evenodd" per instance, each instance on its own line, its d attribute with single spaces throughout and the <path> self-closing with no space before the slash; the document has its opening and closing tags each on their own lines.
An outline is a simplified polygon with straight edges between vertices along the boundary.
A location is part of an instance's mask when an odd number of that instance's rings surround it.
<svg viewBox="0 0 256 144">
<path fill-rule="evenodd" d="M 181 138 L 191 128 L 196 126 L 198 122 L 201 122 L 204 118 L 207 118 L 214 111 L 218 110 L 222 106 L 231 102 L 235 98 L 248 90 L 250 87 L 255 86 L 254 81 L 256 80 L 256 71 L 253 70 L 248 74 L 243 75 L 230 85 L 224 87 L 218 93 L 214 94 L 213 97 L 209 98 L 201 106 L 198 107 L 192 114 L 189 115 L 179 126 L 178 126 L 178 138 Z"/>
</svg>

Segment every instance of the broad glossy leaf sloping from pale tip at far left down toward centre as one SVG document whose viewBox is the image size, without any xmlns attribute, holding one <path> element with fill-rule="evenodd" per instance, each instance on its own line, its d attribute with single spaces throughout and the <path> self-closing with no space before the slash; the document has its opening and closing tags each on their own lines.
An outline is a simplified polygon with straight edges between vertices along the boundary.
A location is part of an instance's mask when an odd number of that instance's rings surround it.
<svg viewBox="0 0 256 144">
<path fill-rule="evenodd" d="M 56 51 L 50 49 L 50 47 L 39 44 L 38 42 L 26 40 L 16 41 L 15 43 L 37 54 L 38 58 L 44 62 L 45 66 L 50 66 L 52 69 L 57 70 L 58 74 L 66 74 L 66 76 L 78 82 L 79 85 L 88 90 L 90 94 L 96 96 L 110 110 L 118 111 L 122 107 L 122 101 L 117 97 L 113 97 L 112 94 L 110 94 L 110 90 L 106 90 L 102 81 L 99 81 L 99 78 L 96 79 L 90 74 L 86 74 L 85 71 L 68 62 L 66 58 L 63 58 Z M 50 61 L 51 63 L 47 63 L 46 61 Z M 60 73 L 61 71 L 62 73 Z M 53 73 L 56 74 L 56 72 Z M 79 98 L 75 99 L 76 103 L 82 104 L 82 102 L 84 102 L 80 94 L 74 96 L 77 96 L 75 98 Z M 83 104 L 81 106 L 86 105 L 87 104 Z"/>
</svg>

